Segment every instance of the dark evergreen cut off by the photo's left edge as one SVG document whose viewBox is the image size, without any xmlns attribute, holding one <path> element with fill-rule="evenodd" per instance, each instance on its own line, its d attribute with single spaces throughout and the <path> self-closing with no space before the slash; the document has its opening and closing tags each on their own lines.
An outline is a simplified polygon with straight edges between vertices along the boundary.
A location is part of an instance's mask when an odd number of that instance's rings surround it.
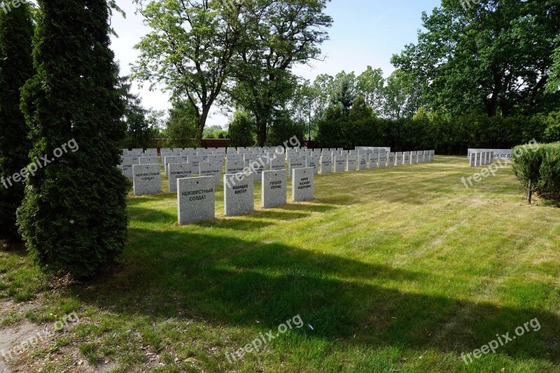
<svg viewBox="0 0 560 373">
<path fill-rule="evenodd" d="M 0 5 L 11 1 L 1 1 Z M 29 164 L 29 127 L 20 111 L 20 88 L 34 74 L 31 6 L 22 3 L 0 10 L 0 239 L 18 241 L 15 212 L 23 200 L 24 184 L 7 178 Z"/>
</svg>

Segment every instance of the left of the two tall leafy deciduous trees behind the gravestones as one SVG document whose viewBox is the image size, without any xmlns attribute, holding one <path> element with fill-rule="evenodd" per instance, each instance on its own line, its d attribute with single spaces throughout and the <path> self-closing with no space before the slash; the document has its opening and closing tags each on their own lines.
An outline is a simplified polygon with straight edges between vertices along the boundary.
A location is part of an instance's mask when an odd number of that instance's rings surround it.
<svg viewBox="0 0 560 373">
<path fill-rule="evenodd" d="M 174 101 L 189 101 L 200 143 L 212 106 L 232 73 L 243 22 L 241 5 L 221 0 L 134 0 L 153 31 L 142 38 L 134 77 L 162 83 Z"/>
</svg>

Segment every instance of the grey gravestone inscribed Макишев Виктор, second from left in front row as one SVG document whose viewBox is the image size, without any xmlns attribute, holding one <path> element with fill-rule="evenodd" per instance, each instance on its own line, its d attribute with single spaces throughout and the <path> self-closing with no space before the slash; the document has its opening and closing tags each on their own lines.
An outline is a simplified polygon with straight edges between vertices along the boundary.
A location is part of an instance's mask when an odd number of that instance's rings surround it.
<svg viewBox="0 0 560 373">
<path fill-rule="evenodd" d="M 230 174 L 223 176 L 223 209 L 225 216 L 239 216 L 255 210 L 255 176 Z"/>
</svg>

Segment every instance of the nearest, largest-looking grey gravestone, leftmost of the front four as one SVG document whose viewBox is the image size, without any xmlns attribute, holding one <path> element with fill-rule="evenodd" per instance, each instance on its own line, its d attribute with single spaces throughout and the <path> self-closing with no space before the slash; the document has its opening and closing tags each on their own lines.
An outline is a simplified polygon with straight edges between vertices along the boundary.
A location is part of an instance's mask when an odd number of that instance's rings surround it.
<svg viewBox="0 0 560 373">
<path fill-rule="evenodd" d="M 216 217 L 214 176 L 179 178 L 177 180 L 177 211 L 179 224 L 197 223 Z"/>
</svg>

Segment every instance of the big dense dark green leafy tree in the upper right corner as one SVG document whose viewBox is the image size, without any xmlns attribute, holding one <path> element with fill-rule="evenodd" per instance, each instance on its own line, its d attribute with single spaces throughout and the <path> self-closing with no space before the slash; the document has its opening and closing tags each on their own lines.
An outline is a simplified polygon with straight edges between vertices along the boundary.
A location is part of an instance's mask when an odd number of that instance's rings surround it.
<svg viewBox="0 0 560 373">
<path fill-rule="evenodd" d="M 418 43 L 392 62 L 429 82 L 429 109 L 510 116 L 558 107 L 560 94 L 545 89 L 560 31 L 558 0 L 481 0 L 465 8 L 442 0 L 422 21 Z"/>
</svg>

